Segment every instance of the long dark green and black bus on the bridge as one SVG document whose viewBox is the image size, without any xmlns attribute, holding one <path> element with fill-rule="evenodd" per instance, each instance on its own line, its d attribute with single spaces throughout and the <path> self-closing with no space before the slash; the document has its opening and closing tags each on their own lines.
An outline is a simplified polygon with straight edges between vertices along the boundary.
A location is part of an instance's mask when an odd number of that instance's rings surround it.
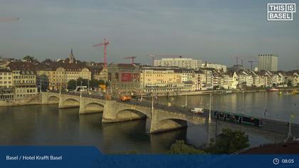
<svg viewBox="0 0 299 168">
<path fill-rule="evenodd" d="M 224 120 L 227 122 L 234 122 L 240 125 L 251 125 L 256 127 L 263 126 L 263 120 L 260 117 L 252 117 L 249 115 L 235 114 L 232 112 L 215 111 L 214 117 L 216 120 Z"/>
</svg>

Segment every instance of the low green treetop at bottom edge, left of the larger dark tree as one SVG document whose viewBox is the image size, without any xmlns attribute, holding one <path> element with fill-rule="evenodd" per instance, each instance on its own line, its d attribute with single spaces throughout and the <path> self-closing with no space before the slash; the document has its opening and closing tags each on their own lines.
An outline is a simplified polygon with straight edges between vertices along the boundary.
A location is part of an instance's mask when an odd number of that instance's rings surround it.
<svg viewBox="0 0 299 168">
<path fill-rule="evenodd" d="M 176 140 L 170 147 L 169 154 L 204 154 L 204 151 L 196 149 L 191 145 L 186 145 L 184 140 Z"/>
</svg>

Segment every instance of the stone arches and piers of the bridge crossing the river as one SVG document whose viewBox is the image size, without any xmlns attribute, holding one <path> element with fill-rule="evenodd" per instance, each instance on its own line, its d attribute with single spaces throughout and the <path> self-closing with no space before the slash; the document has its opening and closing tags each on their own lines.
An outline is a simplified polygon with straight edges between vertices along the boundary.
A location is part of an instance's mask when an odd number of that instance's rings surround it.
<svg viewBox="0 0 299 168">
<path fill-rule="evenodd" d="M 79 107 L 79 114 L 103 112 L 102 122 L 122 122 L 142 118 L 150 119 L 150 133 L 187 127 L 187 122 L 196 125 L 206 121 L 203 115 L 196 115 L 181 107 L 167 107 L 150 103 L 139 103 L 135 100 L 104 100 L 100 96 L 41 93 L 42 104 L 58 103 L 59 108 Z"/>
</svg>

